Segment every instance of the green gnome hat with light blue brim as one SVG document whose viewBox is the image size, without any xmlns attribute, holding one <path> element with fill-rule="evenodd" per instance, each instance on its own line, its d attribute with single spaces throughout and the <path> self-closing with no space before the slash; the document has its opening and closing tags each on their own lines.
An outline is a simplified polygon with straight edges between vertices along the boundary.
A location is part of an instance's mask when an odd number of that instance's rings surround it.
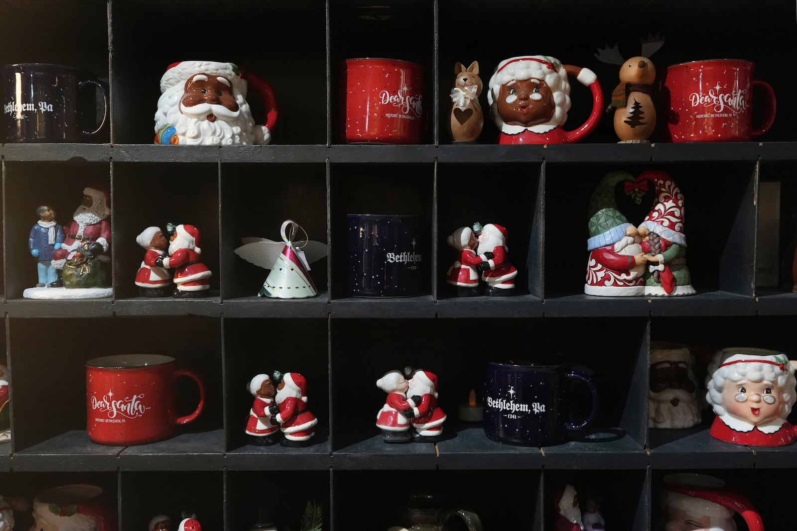
<svg viewBox="0 0 797 531">
<path fill-rule="evenodd" d="M 614 201 L 614 188 L 623 181 L 634 182 L 634 176 L 627 171 L 611 171 L 601 178 L 592 192 L 587 251 L 615 244 L 626 236 L 626 228 L 631 224 Z"/>
</svg>

